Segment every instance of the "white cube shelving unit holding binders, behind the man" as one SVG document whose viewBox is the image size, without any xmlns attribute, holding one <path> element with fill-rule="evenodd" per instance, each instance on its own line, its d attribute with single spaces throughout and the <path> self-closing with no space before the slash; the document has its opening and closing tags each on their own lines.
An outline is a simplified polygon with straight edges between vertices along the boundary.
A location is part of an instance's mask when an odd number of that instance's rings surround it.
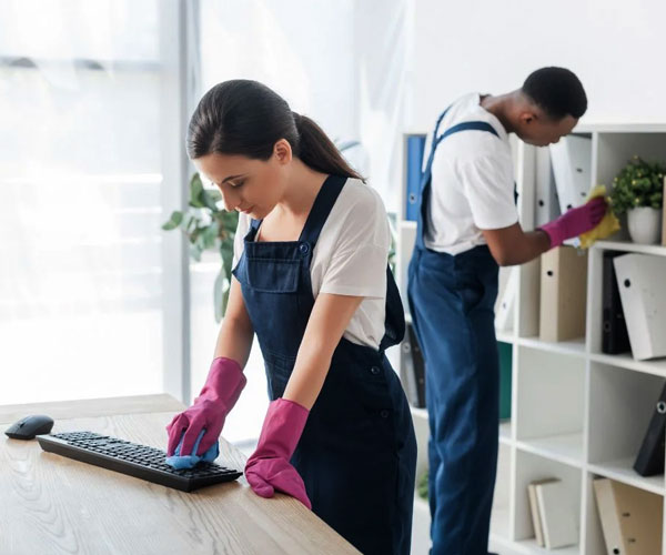
<svg viewBox="0 0 666 555">
<path fill-rule="evenodd" d="M 586 125 L 575 132 L 592 137 L 591 186 L 609 186 L 634 154 L 649 160 L 666 158 L 666 124 Z M 405 137 L 411 134 L 425 131 Z M 524 230 L 533 230 L 536 149 L 519 141 L 513 148 L 521 224 Z M 405 186 L 401 200 L 404 210 Z M 404 216 L 400 214 L 397 223 L 396 280 L 408 311 L 406 273 L 416 224 Z M 556 549 L 566 555 L 606 554 L 593 480 L 608 477 L 666 494 L 663 475 L 646 478 L 632 468 L 666 380 L 666 359 L 639 362 L 630 354 L 607 355 L 601 350 L 604 250 L 666 256 L 666 246 L 634 244 L 623 232 L 613 239 L 599 241 L 589 250 L 586 333 L 574 341 L 547 343 L 538 339 L 541 261 L 517 269 L 514 325 L 509 332 L 497 332 L 498 341 L 512 344 L 513 350 L 512 418 L 503 422 L 498 431 L 500 460 L 491 526 L 491 547 L 502 555 L 551 553 L 538 547 L 534 538 L 527 497 L 527 484 L 534 480 L 556 476 L 567 486 L 571 507 L 579 523 L 579 542 L 577 546 Z M 427 468 L 427 411 L 413 408 L 412 414 L 421 475 Z M 421 555 L 430 546 L 427 503 L 416 498 L 414 515 L 413 553 Z M 662 553 L 666 555 L 666 538 Z"/>
</svg>

